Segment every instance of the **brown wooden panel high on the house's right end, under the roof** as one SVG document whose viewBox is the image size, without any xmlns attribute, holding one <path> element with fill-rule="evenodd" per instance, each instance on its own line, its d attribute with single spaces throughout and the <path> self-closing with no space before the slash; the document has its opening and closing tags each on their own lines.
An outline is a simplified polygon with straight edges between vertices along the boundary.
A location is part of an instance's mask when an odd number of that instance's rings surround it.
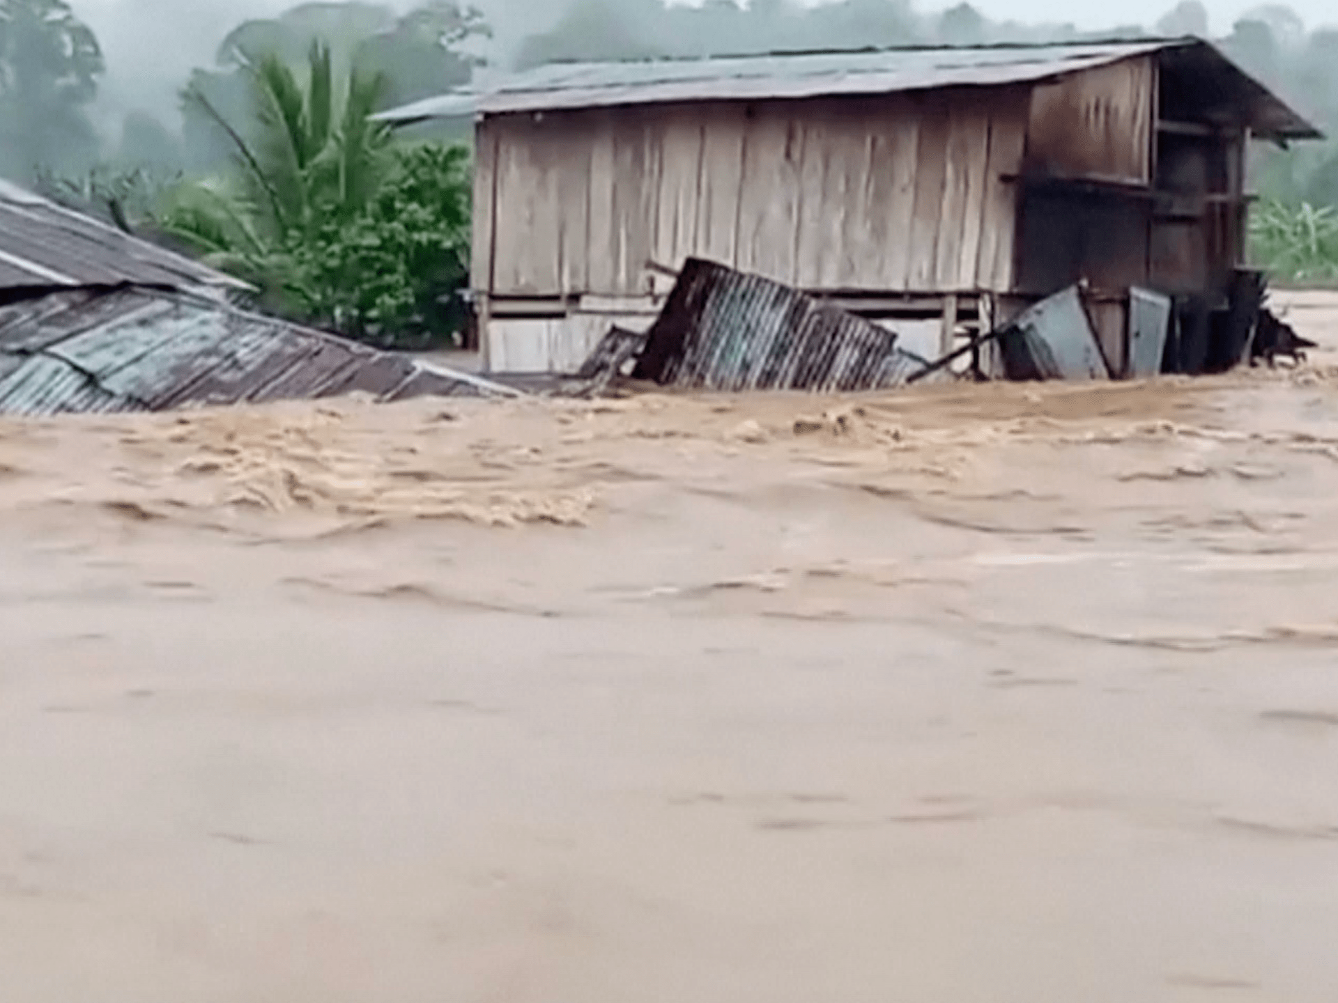
<svg viewBox="0 0 1338 1003">
<path fill-rule="evenodd" d="M 1032 92 L 1026 162 L 1057 178 L 1152 179 L 1156 63 L 1127 59 Z"/>
</svg>

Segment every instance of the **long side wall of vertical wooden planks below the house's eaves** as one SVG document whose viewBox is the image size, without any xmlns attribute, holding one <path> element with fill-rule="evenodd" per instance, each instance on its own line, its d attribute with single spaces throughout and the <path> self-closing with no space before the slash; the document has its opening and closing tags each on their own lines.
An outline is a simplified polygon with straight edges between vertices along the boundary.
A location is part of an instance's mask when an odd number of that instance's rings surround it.
<svg viewBox="0 0 1338 1003">
<path fill-rule="evenodd" d="M 474 284 L 640 296 L 648 259 L 704 257 L 809 290 L 1008 290 L 1001 175 L 1022 167 L 1030 108 L 1021 87 L 490 118 L 496 213 Z"/>
</svg>

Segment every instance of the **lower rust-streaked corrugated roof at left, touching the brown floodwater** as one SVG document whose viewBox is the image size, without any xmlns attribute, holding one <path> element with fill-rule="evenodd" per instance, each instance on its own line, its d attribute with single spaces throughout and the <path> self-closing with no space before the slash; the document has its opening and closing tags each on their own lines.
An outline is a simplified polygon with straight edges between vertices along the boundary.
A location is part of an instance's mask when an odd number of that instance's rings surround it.
<svg viewBox="0 0 1338 1003">
<path fill-rule="evenodd" d="M 203 296 L 122 286 L 0 306 L 0 415 L 511 393 Z"/>
</svg>

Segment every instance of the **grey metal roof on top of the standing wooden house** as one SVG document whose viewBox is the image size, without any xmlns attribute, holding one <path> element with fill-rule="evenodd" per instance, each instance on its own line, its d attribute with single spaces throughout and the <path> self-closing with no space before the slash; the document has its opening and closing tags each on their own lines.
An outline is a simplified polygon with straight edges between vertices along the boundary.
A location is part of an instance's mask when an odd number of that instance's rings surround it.
<svg viewBox="0 0 1338 1003">
<path fill-rule="evenodd" d="M 462 115 L 499 115 L 697 100 L 761 100 L 872 95 L 939 87 L 1034 83 L 1155 52 L 1193 51 L 1227 78 L 1248 104 L 1248 124 L 1271 139 L 1319 132 L 1200 39 L 888 48 L 712 59 L 551 63 L 476 91 L 428 98 L 379 118 L 395 123 Z"/>
</svg>

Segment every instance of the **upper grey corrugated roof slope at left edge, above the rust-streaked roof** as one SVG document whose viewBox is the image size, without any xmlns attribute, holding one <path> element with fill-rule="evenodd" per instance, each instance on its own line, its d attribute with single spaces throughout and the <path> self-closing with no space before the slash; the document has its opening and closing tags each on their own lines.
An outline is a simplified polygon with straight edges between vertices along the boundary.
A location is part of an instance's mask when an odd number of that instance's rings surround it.
<svg viewBox="0 0 1338 1003">
<path fill-rule="evenodd" d="M 0 289 L 122 282 L 248 288 L 190 258 L 0 181 Z"/>
</svg>

